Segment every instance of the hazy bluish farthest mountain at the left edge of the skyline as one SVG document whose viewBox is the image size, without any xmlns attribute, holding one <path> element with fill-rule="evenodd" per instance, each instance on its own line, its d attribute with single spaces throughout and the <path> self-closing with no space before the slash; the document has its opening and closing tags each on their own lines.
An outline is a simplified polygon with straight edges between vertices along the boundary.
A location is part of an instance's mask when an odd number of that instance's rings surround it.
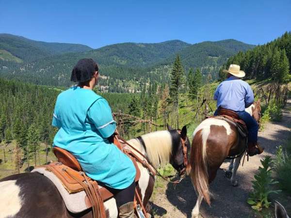
<svg viewBox="0 0 291 218">
<path fill-rule="evenodd" d="M 48 43 L 34 41 L 22 36 L 6 33 L 0 34 L 0 50 L 8 51 L 13 56 L 26 62 L 42 59 L 51 55 L 64 54 L 68 52 L 82 52 L 91 49 L 91 47 L 80 44 Z"/>
</svg>

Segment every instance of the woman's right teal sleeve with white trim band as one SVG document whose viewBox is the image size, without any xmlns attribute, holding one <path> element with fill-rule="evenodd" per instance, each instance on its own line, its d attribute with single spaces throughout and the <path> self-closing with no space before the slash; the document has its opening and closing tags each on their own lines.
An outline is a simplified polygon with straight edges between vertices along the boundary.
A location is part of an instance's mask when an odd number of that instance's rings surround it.
<svg viewBox="0 0 291 218">
<path fill-rule="evenodd" d="M 100 98 L 95 101 L 88 109 L 87 117 L 96 126 L 102 138 L 109 138 L 114 133 L 117 133 L 116 122 L 105 99 Z"/>
</svg>

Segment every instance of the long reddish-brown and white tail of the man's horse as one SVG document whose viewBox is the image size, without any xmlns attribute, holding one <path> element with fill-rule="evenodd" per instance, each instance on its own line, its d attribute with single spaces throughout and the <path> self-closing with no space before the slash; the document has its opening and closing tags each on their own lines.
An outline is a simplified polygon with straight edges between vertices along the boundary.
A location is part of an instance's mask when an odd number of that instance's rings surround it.
<svg viewBox="0 0 291 218">
<path fill-rule="evenodd" d="M 206 141 L 208 134 L 203 134 L 203 129 L 194 135 L 190 156 L 190 177 L 196 192 L 203 196 L 210 205 L 209 175 L 206 154 Z"/>
</svg>

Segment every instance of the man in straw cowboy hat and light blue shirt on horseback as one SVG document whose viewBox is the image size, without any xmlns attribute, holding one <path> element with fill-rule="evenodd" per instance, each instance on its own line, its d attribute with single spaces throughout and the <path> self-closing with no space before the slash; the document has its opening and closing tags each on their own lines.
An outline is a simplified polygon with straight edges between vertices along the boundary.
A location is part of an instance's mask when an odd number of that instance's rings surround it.
<svg viewBox="0 0 291 218">
<path fill-rule="evenodd" d="M 218 114 L 220 108 L 235 111 L 248 128 L 249 156 L 258 155 L 261 153 L 256 147 L 259 125 L 257 121 L 245 111 L 246 108 L 253 104 L 254 93 L 250 85 L 240 79 L 245 76 L 245 73 L 240 70 L 239 65 L 230 64 L 229 69 L 225 71 L 228 73 L 227 79 L 218 85 L 214 93 L 214 100 L 217 100 L 217 110 L 214 115 Z"/>
</svg>

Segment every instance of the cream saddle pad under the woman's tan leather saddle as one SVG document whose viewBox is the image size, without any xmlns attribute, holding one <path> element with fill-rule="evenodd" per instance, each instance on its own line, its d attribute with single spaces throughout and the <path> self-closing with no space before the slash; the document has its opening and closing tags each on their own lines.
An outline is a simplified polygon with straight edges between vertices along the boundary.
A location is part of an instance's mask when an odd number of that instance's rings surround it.
<svg viewBox="0 0 291 218">
<path fill-rule="evenodd" d="M 55 187 L 60 192 L 68 211 L 76 214 L 81 213 L 82 211 L 91 207 L 87 206 L 85 203 L 85 198 L 87 196 L 85 191 L 69 194 L 68 191 L 63 186 L 62 182 L 59 180 L 59 178 L 52 172 L 47 171 L 45 168 L 36 168 L 32 170 L 32 172 L 41 173 L 47 178 L 49 178 L 49 180 L 55 185 Z M 99 186 L 99 188 L 101 188 L 101 186 Z"/>
</svg>

